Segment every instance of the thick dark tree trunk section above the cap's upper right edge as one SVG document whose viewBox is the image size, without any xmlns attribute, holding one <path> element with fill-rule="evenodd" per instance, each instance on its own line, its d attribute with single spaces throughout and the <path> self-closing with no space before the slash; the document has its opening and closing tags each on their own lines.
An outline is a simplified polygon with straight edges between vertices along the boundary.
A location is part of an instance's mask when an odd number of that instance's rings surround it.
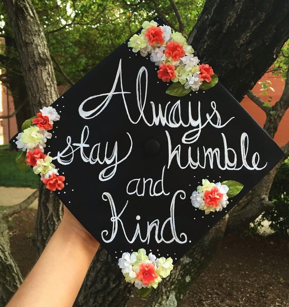
<svg viewBox="0 0 289 307">
<path fill-rule="evenodd" d="M 275 62 L 288 35 L 287 0 L 207 0 L 188 42 L 240 101 Z"/>
</svg>

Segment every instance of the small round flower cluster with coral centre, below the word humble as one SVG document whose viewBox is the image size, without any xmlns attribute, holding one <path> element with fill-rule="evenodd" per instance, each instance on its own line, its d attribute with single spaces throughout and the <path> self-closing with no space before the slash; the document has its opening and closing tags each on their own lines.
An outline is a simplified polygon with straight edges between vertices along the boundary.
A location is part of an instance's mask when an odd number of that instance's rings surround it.
<svg viewBox="0 0 289 307">
<path fill-rule="evenodd" d="M 195 208 L 204 210 L 205 214 L 222 211 L 226 208 L 228 201 L 229 187 L 221 182 L 213 183 L 208 179 L 202 180 L 202 186 L 197 187 L 191 196 L 192 204 Z"/>
</svg>

